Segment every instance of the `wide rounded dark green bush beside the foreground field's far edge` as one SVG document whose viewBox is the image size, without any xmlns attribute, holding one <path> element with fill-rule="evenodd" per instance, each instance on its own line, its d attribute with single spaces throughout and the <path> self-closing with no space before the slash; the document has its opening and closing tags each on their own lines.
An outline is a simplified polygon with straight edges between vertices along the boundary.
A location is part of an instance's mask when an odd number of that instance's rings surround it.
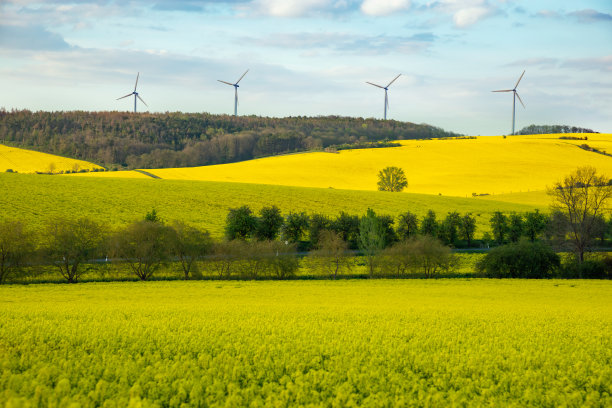
<svg viewBox="0 0 612 408">
<path fill-rule="evenodd" d="M 478 272 L 490 278 L 548 278 L 561 261 L 541 242 L 521 241 L 492 249 L 478 264 Z"/>
</svg>

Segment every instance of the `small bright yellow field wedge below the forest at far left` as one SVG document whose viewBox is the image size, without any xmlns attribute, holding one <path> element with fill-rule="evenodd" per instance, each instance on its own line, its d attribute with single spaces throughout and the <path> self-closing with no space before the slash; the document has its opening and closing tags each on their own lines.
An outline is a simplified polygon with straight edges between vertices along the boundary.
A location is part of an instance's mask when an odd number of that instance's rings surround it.
<svg viewBox="0 0 612 408">
<path fill-rule="evenodd" d="M 62 173 L 94 169 L 102 169 L 102 167 L 83 160 L 68 159 L 0 144 L 0 172 L 13 170 L 18 173 Z"/>
</svg>

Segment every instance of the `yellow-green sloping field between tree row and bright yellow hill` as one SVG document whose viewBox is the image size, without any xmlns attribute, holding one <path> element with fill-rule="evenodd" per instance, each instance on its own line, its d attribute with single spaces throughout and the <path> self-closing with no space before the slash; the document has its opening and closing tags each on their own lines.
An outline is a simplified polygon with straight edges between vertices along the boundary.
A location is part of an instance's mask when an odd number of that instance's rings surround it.
<svg viewBox="0 0 612 408">
<path fill-rule="evenodd" d="M 52 216 L 90 216 L 110 225 L 138 219 L 151 208 L 167 220 L 181 219 L 220 236 L 228 208 L 249 205 L 255 211 L 277 205 L 289 211 L 340 211 L 397 215 L 410 210 L 438 216 L 448 211 L 472 212 L 479 231 L 488 230 L 493 211 L 528 211 L 543 206 L 424 194 L 398 194 L 187 180 L 59 177 L 0 173 L 0 218 L 19 218 L 41 225 Z"/>
</svg>

